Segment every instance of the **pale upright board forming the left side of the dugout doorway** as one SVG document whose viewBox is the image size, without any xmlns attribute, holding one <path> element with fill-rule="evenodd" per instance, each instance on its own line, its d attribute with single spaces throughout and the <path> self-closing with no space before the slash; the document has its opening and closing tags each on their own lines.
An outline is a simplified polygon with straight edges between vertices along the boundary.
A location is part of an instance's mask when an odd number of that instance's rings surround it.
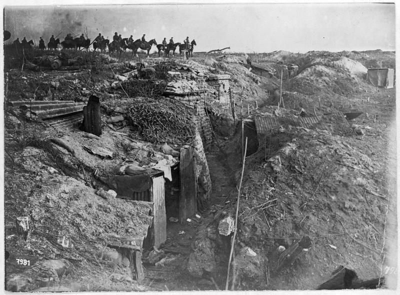
<svg viewBox="0 0 400 295">
<path fill-rule="evenodd" d="M 165 186 L 164 177 L 152 178 L 150 201 L 153 202 L 154 216 L 154 246 L 159 246 L 166 240 Z"/>
</svg>

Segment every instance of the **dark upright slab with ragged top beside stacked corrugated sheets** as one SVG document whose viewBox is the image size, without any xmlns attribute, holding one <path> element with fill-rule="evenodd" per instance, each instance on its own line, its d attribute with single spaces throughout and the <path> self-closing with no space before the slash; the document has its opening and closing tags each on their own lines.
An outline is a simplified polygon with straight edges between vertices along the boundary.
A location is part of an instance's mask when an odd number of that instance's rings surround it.
<svg viewBox="0 0 400 295">
<path fill-rule="evenodd" d="M 87 106 L 83 107 L 83 131 L 101 135 L 100 99 L 90 95 Z"/>
</svg>

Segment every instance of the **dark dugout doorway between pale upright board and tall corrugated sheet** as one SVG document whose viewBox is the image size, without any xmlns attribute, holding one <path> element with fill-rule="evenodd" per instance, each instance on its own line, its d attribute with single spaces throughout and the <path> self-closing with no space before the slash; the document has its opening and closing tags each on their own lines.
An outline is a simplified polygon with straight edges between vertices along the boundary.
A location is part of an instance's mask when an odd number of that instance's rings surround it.
<svg viewBox="0 0 400 295">
<path fill-rule="evenodd" d="M 165 178 L 165 214 L 169 217 L 179 218 L 180 177 L 179 163 L 171 167 L 172 181 Z"/>
</svg>

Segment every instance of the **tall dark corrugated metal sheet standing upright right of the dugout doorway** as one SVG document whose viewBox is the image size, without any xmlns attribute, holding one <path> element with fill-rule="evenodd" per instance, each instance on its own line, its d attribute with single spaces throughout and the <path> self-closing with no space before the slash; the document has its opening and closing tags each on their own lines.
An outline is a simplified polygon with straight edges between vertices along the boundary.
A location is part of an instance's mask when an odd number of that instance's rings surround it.
<svg viewBox="0 0 400 295">
<path fill-rule="evenodd" d="M 180 197 L 179 220 L 183 223 L 187 217 L 197 211 L 196 159 L 193 147 L 180 149 Z"/>
</svg>

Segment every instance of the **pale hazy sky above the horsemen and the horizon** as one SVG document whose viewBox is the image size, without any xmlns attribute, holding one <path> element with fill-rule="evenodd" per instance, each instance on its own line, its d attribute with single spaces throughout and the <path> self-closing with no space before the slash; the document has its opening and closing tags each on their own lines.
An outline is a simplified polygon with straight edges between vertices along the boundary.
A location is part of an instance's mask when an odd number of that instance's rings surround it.
<svg viewBox="0 0 400 295">
<path fill-rule="evenodd" d="M 230 47 L 232 52 L 276 50 L 304 53 L 395 50 L 394 4 L 196 4 L 126 6 L 35 6 L 4 8 L 12 42 L 26 36 L 37 44 L 51 35 L 114 32 L 161 43 L 165 37 L 195 40 L 194 51 Z M 62 41 L 61 39 L 61 41 Z M 155 49 L 155 48 L 154 48 Z"/>
</svg>

